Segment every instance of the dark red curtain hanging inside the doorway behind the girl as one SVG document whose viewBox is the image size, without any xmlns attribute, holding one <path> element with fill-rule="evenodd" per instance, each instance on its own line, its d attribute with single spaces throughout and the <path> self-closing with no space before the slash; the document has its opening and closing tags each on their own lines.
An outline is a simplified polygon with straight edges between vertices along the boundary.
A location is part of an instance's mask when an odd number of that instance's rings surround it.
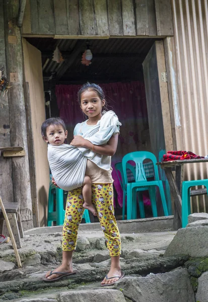
<svg viewBox="0 0 208 302">
<path fill-rule="evenodd" d="M 112 158 L 114 187 L 117 192 L 118 204 L 122 206 L 122 190 L 116 176 L 114 165 L 121 162 L 122 157 L 136 150 L 142 150 L 142 131 L 148 128 L 148 114 L 143 82 L 100 84 L 106 94 L 109 110 L 113 110 L 122 126 L 118 138 L 118 148 Z M 73 130 L 77 123 L 85 117 L 77 101 L 77 93 L 81 85 L 57 85 L 56 98 L 59 115 L 66 123 L 68 141 L 73 138 Z"/>
</svg>

